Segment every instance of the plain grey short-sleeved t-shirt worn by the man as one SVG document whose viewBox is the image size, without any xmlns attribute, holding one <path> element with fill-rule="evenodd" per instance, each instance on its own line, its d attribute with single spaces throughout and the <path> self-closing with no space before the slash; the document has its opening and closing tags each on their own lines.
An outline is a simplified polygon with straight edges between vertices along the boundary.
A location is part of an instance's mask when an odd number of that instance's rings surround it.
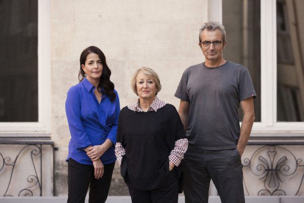
<svg viewBox="0 0 304 203">
<path fill-rule="evenodd" d="M 236 148 L 240 136 L 240 101 L 256 97 L 247 68 L 227 61 L 209 68 L 187 68 L 175 95 L 190 102 L 187 123 L 189 146 L 204 150 Z"/>
</svg>

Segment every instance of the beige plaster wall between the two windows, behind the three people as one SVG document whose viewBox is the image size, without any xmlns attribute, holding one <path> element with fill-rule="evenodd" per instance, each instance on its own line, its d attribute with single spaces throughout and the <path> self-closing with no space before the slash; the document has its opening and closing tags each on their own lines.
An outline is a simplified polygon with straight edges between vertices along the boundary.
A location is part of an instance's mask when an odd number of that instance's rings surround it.
<svg viewBox="0 0 304 203">
<path fill-rule="evenodd" d="M 65 158 L 70 134 L 64 106 L 68 89 L 78 83 L 82 50 L 94 45 L 105 53 L 121 108 L 135 103 L 130 80 L 143 66 L 158 73 L 163 86 L 159 98 L 178 108 L 174 92 L 183 70 L 205 60 L 198 47 L 198 29 L 208 20 L 207 2 L 52 1 L 52 140 L 58 147 L 55 195 L 67 195 Z M 121 181 L 118 168 L 114 178 L 114 184 Z"/>
</svg>

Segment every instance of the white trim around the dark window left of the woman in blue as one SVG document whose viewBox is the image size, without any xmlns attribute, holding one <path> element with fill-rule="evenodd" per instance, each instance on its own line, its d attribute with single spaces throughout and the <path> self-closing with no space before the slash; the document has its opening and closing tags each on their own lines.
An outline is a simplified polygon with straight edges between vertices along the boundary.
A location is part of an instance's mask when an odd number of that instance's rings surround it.
<svg viewBox="0 0 304 203">
<path fill-rule="evenodd" d="M 51 93 L 51 0 L 38 0 L 38 122 L 0 123 L 0 138 L 49 138 Z"/>
</svg>

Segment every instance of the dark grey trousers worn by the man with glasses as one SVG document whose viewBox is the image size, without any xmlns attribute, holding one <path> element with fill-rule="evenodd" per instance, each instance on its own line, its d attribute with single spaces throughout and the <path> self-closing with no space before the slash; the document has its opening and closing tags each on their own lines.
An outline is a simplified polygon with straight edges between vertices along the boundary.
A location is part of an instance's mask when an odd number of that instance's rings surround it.
<svg viewBox="0 0 304 203">
<path fill-rule="evenodd" d="M 212 179 L 222 203 L 244 203 L 243 171 L 237 148 L 199 150 L 188 147 L 183 160 L 186 203 L 206 203 Z"/>
</svg>

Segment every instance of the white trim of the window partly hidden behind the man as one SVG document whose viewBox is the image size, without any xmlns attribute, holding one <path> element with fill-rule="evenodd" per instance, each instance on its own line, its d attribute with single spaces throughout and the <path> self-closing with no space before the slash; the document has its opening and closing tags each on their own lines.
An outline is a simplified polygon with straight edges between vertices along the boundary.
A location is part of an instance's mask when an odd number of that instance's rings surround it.
<svg viewBox="0 0 304 203">
<path fill-rule="evenodd" d="M 209 20 L 222 23 L 222 0 L 208 0 L 208 6 Z M 251 137 L 303 138 L 304 122 L 276 122 L 276 57 L 276 0 L 261 0 L 261 122 L 253 124 Z"/>
</svg>

